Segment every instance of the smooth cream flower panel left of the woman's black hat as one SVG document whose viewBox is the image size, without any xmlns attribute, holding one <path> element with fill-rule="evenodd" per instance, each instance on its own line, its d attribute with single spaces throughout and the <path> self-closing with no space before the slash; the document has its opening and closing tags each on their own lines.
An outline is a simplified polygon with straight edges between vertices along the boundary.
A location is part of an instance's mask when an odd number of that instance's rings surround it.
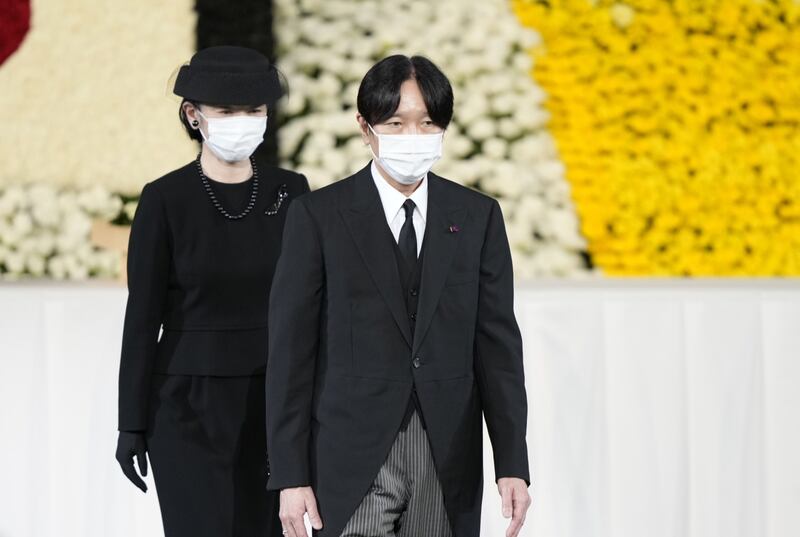
<svg viewBox="0 0 800 537">
<path fill-rule="evenodd" d="M 101 184 L 138 194 L 190 161 L 167 79 L 194 51 L 193 0 L 33 0 L 0 66 L 0 190 Z"/>
</svg>

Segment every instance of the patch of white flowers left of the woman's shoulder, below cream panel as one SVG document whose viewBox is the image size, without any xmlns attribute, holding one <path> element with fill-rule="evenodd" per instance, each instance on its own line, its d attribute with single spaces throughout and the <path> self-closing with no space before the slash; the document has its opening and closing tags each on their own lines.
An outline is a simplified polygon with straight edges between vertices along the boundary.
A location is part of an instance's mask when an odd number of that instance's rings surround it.
<svg viewBox="0 0 800 537">
<path fill-rule="evenodd" d="M 114 220 L 122 211 L 122 198 L 100 186 L 0 190 L 0 277 L 116 277 L 120 253 L 94 247 L 90 234 L 93 221 Z"/>
</svg>

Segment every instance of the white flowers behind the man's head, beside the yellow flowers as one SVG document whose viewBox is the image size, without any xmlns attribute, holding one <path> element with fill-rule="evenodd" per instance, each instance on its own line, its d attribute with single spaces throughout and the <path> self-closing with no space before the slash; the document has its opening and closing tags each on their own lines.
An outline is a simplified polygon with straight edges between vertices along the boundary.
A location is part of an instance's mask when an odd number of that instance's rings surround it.
<svg viewBox="0 0 800 537">
<path fill-rule="evenodd" d="M 538 35 L 506 0 L 275 0 L 289 81 L 280 157 L 319 188 L 371 155 L 355 119 L 358 84 L 379 59 L 421 54 L 453 83 L 455 117 L 434 171 L 497 198 L 520 279 L 586 276 L 564 166 L 530 76 Z"/>
</svg>

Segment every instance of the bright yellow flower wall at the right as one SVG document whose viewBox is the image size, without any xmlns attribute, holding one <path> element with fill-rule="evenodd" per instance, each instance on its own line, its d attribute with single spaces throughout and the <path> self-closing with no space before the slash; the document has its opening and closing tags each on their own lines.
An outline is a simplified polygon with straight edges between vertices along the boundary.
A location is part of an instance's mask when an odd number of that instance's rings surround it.
<svg viewBox="0 0 800 537">
<path fill-rule="evenodd" d="M 605 274 L 800 274 L 800 2 L 512 5 Z"/>
</svg>

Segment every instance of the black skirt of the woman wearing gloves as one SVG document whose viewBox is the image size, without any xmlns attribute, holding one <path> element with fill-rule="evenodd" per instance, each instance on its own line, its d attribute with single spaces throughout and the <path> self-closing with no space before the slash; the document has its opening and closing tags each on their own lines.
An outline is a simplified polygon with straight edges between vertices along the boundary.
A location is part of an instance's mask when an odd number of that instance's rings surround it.
<svg viewBox="0 0 800 537">
<path fill-rule="evenodd" d="M 166 537 L 281 535 L 264 375 L 154 375 L 147 442 Z"/>
</svg>

